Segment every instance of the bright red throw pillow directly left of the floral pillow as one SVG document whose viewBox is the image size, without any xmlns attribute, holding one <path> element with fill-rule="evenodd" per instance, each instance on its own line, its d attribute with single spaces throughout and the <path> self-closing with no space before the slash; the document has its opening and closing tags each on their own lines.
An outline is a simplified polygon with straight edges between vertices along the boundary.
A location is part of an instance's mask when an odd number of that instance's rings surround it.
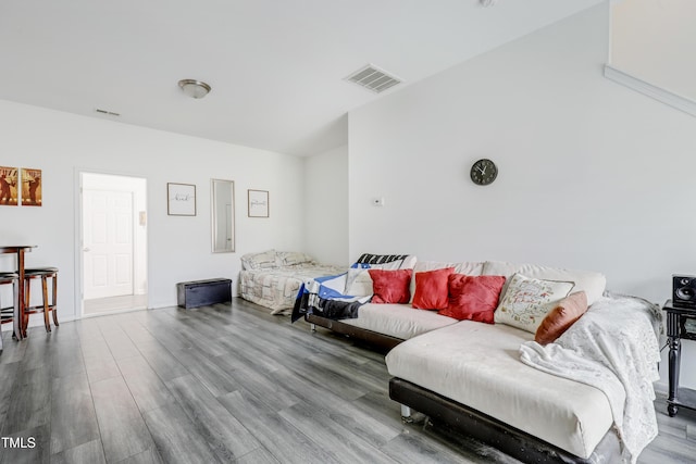
<svg viewBox="0 0 696 464">
<path fill-rule="evenodd" d="M 504 276 L 452 274 L 449 276 L 449 303 L 439 314 L 493 324 L 504 284 Z"/>
</svg>

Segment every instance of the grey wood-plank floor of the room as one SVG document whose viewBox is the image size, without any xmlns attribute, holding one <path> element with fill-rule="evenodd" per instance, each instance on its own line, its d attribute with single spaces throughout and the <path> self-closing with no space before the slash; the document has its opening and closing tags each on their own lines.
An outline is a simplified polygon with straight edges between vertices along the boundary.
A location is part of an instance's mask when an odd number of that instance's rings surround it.
<svg viewBox="0 0 696 464">
<path fill-rule="evenodd" d="M 383 353 L 244 300 L 2 336 L 1 464 L 517 462 L 402 424 Z M 656 410 L 638 462 L 696 462 L 696 414 Z"/>
</svg>

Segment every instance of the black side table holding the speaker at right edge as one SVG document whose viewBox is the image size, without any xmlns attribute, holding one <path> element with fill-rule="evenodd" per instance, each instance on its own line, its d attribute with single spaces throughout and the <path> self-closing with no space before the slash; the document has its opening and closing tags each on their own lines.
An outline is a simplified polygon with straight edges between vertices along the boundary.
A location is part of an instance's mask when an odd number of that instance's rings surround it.
<svg viewBox="0 0 696 464">
<path fill-rule="evenodd" d="M 696 308 L 673 306 L 672 300 L 667 300 L 662 310 L 667 312 L 667 342 L 670 347 L 667 412 L 674 417 L 679 407 L 696 410 L 696 391 L 679 388 L 682 339 L 696 340 Z"/>
</svg>

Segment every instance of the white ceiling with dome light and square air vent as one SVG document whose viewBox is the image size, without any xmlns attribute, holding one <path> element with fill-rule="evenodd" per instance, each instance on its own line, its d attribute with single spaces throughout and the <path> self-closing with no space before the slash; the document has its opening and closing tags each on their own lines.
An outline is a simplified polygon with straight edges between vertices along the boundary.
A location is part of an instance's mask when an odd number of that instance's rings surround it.
<svg viewBox="0 0 696 464">
<path fill-rule="evenodd" d="M 3 0 L 0 99 L 308 155 L 347 142 L 350 110 L 602 2 Z M 345 80 L 369 63 L 403 83 Z"/>
</svg>

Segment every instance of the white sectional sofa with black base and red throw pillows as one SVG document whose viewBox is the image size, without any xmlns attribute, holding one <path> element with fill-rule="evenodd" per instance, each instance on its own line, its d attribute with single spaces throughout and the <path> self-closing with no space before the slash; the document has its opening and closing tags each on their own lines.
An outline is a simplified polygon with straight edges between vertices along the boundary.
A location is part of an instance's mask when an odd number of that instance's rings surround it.
<svg viewBox="0 0 696 464">
<path fill-rule="evenodd" d="M 544 347 L 563 350 L 557 342 L 562 341 L 564 333 L 571 338 L 569 327 L 580 325 L 576 321 L 583 317 L 588 321 L 587 330 L 592 333 L 597 321 L 604 325 L 602 321 L 614 318 L 607 312 L 614 311 L 614 306 L 648 306 L 644 318 L 650 334 L 645 335 L 643 325 L 635 328 L 635 334 L 638 338 L 654 339 L 644 340 L 636 348 L 621 347 L 619 351 L 646 351 L 644 364 L 648 367 L 643 367 L 647 369 L 644 377 L 651 391 L 659 360 L 655 338 L 659 311 L 655 305 L 642 300 L 636 303 L 637 299 L 633 301 L 630 297 L 604 296 L 605 276 L 594 272 L 490 261 L 417 262 L 412 267 L 358 268 L 347 273 L 344 292 L 349 298 L 373 292 L 372 302 L 359 305 L 357 317 L 328 318 L 321 308 L 304 315 L 312 329 L 319 325 L 390 350 L 386 355 L 387 368 L 393 375 L 389 396 L 402 405 L 405 421 L 409 419 L 412 407 L 435 424 L 463 431 L 523 462 L 535 463 L 634 462 L 636 449 L 639 453 L 657 432 L 655 425 L 654 430 L 641 436 L 642 444 L 633 446 L 634 454 L 626 453 L 626 443 L 621 443 L 617 432 L 617 423 L 624 413 L 620 392 L 613 393 L 620 397 L 618 400 L 612 399 L 593 381 L 572 378 L 573 375 L 568 378 L 555 372 L 554 366 L 545 371 L 529 360 L 530 353 L 534 358 L 534 349 L 542 358 Z M 408 300 L 401 296 L 401 301 L 389 302 L 380 294 L 385 290 L 377 280 L 395 272 L 410 275 Z M 438 273 L 447 275 L 444 289 L 447 301 L 442 301 L 443 276 L 425 279 Z M 459 284 L 456 289 L 452 289 L 453 281 Z M 374 288 L 370 288 L 370 284 Z M 439 302 L 436 293 L 440 293 Z M 534 298 L 539 294 L 548 301 L 536 304 L 538 301 L 535 303 Z M 391 297 L 394 294 L 387 296 L 386 300 Z M 448 310 L 452 298 L 459 298 L 469 311 Z M 534 308 L 535 304 L 538 308 Z M 562 308 L 563 304 L 567 308 Z M 594 306 L 598 308 L 596 312 L 592 311 Z M 556 319 L 549 323 L 551 316 L 546 316 L 551 308 Z M 592 314 L 583 316 L 585 311 Z M 594 313 L 599 315 L 598 319 Z M 634 318 L 632 312 L 617 314 L 620 318 Z M 546 339 L 539 340 L 544 344 L 534 341 L 542 331 L 539 327 L 546 330 L 542 334 Z M 618 327 L 605 337 L 616 338 L 622 330 Z M 632 338 L 626 334 L 624 336 Z M 575 336 L 593 337 L 592 334 Z M 572 353 L 572 350 L 564 352 Z M 523 358 L 527 358 L 526 363 Z M 644 402 L 650 401 L 651 405 L 654 397 L 646 394 Z"/>
</svg>

